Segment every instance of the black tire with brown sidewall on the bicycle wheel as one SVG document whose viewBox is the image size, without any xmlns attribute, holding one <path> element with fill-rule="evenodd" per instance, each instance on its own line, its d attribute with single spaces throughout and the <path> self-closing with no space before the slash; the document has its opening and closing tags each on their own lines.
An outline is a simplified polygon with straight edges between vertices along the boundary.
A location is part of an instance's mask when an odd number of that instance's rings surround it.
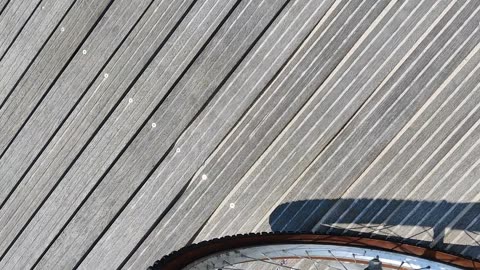
<svg viewBox="0 0 480 270">
<path fill-rule="evenodd" d="M 177 270 L 205 256 L 237 248 L 272 244 L 334 244 L 352 247 L 364 247 L 405 255 L 416 256 L 431 261 L 449 264 L 463 269 L 480 269 L 480 262 L 458 254 L 434 250 L 427 246 L 401 243 L 402 239 L 382 240 L 379 237 L 325 235 L 297 232 L 251 233 L 226 236 L 186 246 L 175 251 L 149 267 L 149 270 Z"/>
</svg>

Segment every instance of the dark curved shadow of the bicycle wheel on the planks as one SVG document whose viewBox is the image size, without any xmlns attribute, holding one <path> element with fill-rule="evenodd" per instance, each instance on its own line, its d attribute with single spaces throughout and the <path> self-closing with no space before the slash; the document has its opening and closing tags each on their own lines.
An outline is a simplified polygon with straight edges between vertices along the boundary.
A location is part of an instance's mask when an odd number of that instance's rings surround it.
<svg viewBox="0 0 480 270">
<path fill-rule="evenodd" d="M 387 199 L 288 202 L 270 215 L 272 231 L 400 238 L 480 259 L 480 203 Z"/>
</svg>

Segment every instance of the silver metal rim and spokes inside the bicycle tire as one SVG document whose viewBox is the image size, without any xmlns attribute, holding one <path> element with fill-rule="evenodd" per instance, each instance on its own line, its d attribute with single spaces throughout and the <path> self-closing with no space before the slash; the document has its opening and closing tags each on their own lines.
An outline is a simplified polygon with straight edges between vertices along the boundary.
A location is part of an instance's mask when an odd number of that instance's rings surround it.
<svg viewBox="0 0 480 270">
<path fill-rule="evenodd" d="M 379 261 L 379 262 L 378 262 Z M 199 259 L 185 269 L 460 269 L 428 259 L 362 247 L 277 244 L 238 248 Z"/>
</svg>

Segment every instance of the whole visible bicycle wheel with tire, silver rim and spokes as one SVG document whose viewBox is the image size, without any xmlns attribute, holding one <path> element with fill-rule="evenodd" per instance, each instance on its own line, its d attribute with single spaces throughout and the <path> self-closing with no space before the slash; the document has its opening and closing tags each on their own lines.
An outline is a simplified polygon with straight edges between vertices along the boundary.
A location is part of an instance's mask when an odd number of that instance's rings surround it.
<svg viewBox="0 0 480 270">
<path fill-rule="evenodd" d="M 311 233 L 236 235 L 187 246 L 156 261 L 149 269 L 480 268 L 473 258 L 396 240 Z"/>
</svg>

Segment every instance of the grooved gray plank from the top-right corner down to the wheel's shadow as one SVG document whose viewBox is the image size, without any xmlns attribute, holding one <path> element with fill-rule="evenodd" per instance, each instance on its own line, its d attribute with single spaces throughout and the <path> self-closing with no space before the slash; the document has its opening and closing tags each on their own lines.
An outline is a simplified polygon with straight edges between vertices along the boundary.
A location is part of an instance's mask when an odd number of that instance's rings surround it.
<svg viewBox="0 0 480 270">
<path fill-rule="evenodd" d="M 376 109 L 364 109 L 363 113 L 358 116 L 358 120 L 347 126 L 347 129 L 337 136 L 336 140 L 338 141 L 327 148 L 302 175 L 297 182 L 303 183 L 302 186 L 296 186 L 289 190 L 294 198 L 308 198 L 314 194 L 315 196 L 323 195 L 325 198 L 341 196 L 345 188 L 348 188 L 353 183 L 352 181 L 366 170 L 366 166 L 380 154 L 378 151 L 386 147 L 394 138 L 392 135 L 398 133 L 401 127 L 414 117 L 416 111 L 420 110 L 430 96 L 438 93 L 438 88 L 449 78 L 450 74 L 456 73 L 455 69 L 460 66 L 460 63 L 478 42 L 477 36 L 474 34 L 475 24 L 478 24 L 476 22 L 478 14 L 475 8 L 478 6 L 472 2 L 470 4 L 474 6 L 453 5 L 445 13 L 443 19 L 438 21 L 432 32 L 415 49 L 410 60 L 407 59 L 404 64 L 405 75 L 401 77 L 400 72 L 393 75 L 383 85 L 385 90 L 380 91 L 371 101 L 371 104 L 379 104 L 371 105 Z M 452 16 L 454 14 L 457 16 Z M 461 34 L 461 32 L 465 34 Z M 417 58 L 419 59 L 415 60 Z M 429 60 L 422 62 L 422 58 Z M 400 81 L 395 83 L 397 78 Z M 401 81 L 405 82 L 404 86 Z M 402 105 L 404 100 L 408 100 L 408 102 Z M 402 106 L 405 106 L 405 109 L 398 111 L 398 116 L 394 117 L 395 109 L 402 108 Z M 366 117 L 366 120 L 360 120 L 361 117 Z M 369 118 L 372 120 L 367 120 Z M 376 120 L 373 120 L 375 118 Z M 401 121 L 402 124 L 399 125 L 398 121 Z M 381 123 L 385 123 L 385 125 L 382 126 Z M 372 134 L 375 130 L 378 130 L 379 133 Z M 392 132 L 392 130 L 395 131 Z M 353 144 L 356 146 L 353 147 Z M 368 162 L 361 162 L 364 158 Z M 351 173 L 351 175 L 345 172 Z M 318 206 L 320 212 L 315 216 L 323 216 L 331 206 L 327 204 Z M 299 218 L 303 220 L 303 225 L 297 224 L 300 226 L 299 229 L 311 229 L 317 222 L 308 215 Z"/>
</svg>

